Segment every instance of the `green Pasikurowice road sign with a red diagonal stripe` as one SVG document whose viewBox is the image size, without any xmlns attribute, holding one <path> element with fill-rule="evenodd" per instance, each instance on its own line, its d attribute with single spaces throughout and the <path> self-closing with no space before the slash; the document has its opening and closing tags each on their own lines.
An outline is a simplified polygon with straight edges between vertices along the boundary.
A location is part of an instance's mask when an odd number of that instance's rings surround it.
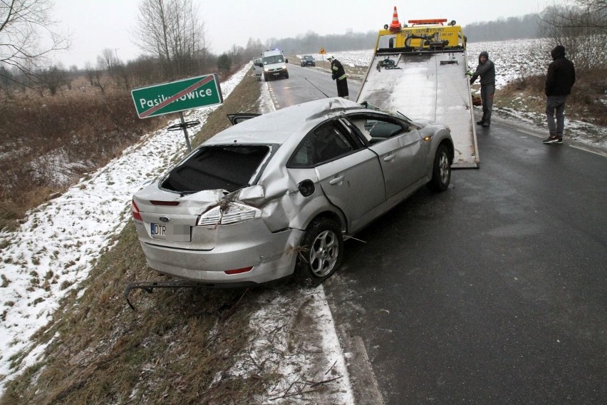
<svg viewBox="0 0 607 405">
<path fill-rule="evenodd" d="M 133 88 L 130 93 L 139 118 L 215 106 L 224 101 L 217 74 Z"/>
</svg>

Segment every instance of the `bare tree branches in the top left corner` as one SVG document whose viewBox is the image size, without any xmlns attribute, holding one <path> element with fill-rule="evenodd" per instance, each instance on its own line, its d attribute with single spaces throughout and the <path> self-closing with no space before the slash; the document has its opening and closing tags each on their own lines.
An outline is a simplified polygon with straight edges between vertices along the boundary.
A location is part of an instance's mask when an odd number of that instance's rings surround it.
<svg viewBox="0 0 607 405">
<path fill-rule="evenodd" d="M 50 0 L 0 0 L 2 66 L 35 76 L 48 65 L 51 52 L 68 48 L 68 37 L 52 30 L 56 22 L 50 18 L 51 7 Z"/>
</svg>

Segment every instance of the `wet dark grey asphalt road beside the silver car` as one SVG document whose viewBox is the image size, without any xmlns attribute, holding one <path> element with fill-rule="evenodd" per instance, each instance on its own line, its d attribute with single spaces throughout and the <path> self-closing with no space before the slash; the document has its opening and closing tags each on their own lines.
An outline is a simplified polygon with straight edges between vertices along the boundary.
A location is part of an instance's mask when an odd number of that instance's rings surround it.
<svg viewBox="0 0 607 405">
<path fill-rule="evenodd" d="M 291 88 L 282 106 L 311 91 Z M 541 140 L 479 128 L 478 170 L 346 242 L 325 289 L 368 358 L 350 365 L 359 403 L 378 400 L 369 371 L 385 404 L 607 403 L 607 158 Z"/>
</svg>

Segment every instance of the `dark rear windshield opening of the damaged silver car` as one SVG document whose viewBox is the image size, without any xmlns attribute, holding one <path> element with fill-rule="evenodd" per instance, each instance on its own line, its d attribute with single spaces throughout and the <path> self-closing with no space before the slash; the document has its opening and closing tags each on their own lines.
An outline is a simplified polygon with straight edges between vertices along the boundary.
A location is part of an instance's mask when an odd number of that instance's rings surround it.
<svg viewBox="0 0 607 405">
<path fill-rule="evenodd" d="M 249 185 L 269 151 L 267 145 L 205 146 L 173 168 L 160 187 L 179 193 L 232 192 Z"/>
</svg>

